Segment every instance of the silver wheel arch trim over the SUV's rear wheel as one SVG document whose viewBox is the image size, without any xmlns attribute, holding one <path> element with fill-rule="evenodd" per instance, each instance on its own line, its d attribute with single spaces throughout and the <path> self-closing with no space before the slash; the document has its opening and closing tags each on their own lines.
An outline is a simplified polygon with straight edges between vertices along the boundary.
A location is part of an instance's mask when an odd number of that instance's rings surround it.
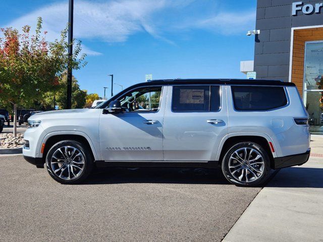
<svg viewBox="0 0 323 242">
<path fill-rule="evenodd" d="M 227 136 L 226 139 L 224 138 L 221 142 L 216 160 L 218 160 L 219 163 L 221 164 L 224 155 L 227 153 L 230 147 L 232 147 L 234 144 L 237 144 L 240 142 L 246 142 L 246 141 L 254 142 L 261 145 L 267 151 L 271 159 L 271 164 L 272 162 L 274 162 L 274 158 L 277 157 L 275 144 L 273 140 L 265 134 L 235 134 L 235 135 Z M 271 151 L 269 142 L 272 142 L 274 146 L 274 149 L 275 149 L 274 153 Z"/>
</svg>

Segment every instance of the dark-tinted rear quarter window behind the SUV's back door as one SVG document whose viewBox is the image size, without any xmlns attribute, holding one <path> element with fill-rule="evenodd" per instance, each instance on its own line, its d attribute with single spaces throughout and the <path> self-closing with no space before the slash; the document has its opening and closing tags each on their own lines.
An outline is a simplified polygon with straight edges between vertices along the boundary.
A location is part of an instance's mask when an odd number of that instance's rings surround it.
<svg viewBox="0 0 323 242">
<path fill-rule="evenodd" d="M 284 87 L 232 86 L 234 107 L 239 111 L 271 110 L 287 105 Z"/>
</svg>

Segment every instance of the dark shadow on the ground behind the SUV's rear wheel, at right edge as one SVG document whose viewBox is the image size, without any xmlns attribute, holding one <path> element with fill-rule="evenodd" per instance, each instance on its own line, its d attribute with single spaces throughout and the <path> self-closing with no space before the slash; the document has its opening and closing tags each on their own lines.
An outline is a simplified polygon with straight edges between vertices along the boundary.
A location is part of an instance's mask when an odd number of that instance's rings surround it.
<svg viewBox="0 0 323 242">
<path fill-rule="evenodd" d="M 268 188 L 323 188 L 323 168 L 289 167 L 281 169 Z"/>
</svg>

